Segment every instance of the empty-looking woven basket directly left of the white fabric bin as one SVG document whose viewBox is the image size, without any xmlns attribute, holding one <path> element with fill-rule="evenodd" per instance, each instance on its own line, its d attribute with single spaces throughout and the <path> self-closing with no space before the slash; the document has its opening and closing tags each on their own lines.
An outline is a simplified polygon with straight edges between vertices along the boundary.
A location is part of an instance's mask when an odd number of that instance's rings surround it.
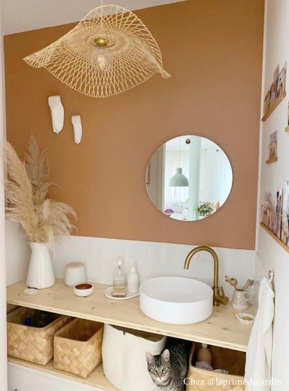
<svg viewBox="0 0 289 391">
<path fill-rule="evenodd" d="M 87 377 L 101 362 L 104 324 L 74 319 L 54 335 L 54 368 Z"/>
</svg>

